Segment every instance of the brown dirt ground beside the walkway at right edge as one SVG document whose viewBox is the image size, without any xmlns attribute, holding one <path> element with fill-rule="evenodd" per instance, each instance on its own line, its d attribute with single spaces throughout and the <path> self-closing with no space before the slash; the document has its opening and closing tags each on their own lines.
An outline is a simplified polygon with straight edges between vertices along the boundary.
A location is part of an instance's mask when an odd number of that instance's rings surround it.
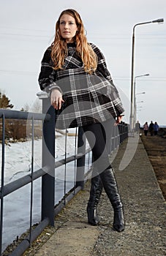
<svg viewBox="0 0 166 256">
<path fill-rule="evenodd" d="M 159 187 L 166 200 L 166 138 L 158 135 L 142 135 L 141 140 L 146 148 L 148 158 L 156 173 Z"/>
</svg>

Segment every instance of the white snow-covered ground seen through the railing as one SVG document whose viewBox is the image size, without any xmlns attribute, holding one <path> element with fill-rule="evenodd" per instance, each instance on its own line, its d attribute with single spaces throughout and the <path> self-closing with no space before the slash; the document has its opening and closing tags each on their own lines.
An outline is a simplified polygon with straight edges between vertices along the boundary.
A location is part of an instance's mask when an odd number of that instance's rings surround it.
<svg viewBox="0 0 166 256">
<path fill-rule="evenodd" d="M 75 129 L 69 129 L 75 132 Z M 56 160 L 65 155 L 65 136 L 56 132 Z M 76 138 L 77 143 L 77 138 Z M 88 143 L 87 143 L 88 144 Z M 77 144 L 76 144 L 77 145 Z M 1 148 L 0 148 L 1 154 Z M 67 157 L 75 154 L 75 136 L 67 136 Z M 34 170 L 42 167 L 42 140 L 34 140 Z M 88 160 L 86 159 L 86 162 Z M 31 141 L 5 146 L 4 184 L 31 173 Z M 88 170 L 88 167 L 86 167 Z M 67 164 L 66 192 L 74 187 L 75 164 Z M 0 177 L 1 181 L 1 177 Z M 4 197 L 3 250 L 29 229 L 31 184 Z M 56 169 L 55 204 L 64 196 L 64 166 Z M 41 220 L 41 178 L 34 181 L 33 224 Z"/>
</svg>

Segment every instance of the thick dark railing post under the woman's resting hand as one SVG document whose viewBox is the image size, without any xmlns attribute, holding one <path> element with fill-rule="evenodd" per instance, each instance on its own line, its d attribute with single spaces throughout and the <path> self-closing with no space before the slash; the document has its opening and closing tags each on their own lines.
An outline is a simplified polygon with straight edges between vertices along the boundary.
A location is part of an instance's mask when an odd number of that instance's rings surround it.
<svg viewBox="0 0 166 256">
<path fill-rule="evenodd" d="M 44 92 L 43 92 L 44 93 Z M 48 167 L 48 173 L 42 176 L 42 220 L 49 218 L 54 226 L 55 205 L 55 109 L 50 98 L 42 99 L 42 113 L 50 114 L 50 120 L 43 123 L 42 167 Z"/>
</svg>

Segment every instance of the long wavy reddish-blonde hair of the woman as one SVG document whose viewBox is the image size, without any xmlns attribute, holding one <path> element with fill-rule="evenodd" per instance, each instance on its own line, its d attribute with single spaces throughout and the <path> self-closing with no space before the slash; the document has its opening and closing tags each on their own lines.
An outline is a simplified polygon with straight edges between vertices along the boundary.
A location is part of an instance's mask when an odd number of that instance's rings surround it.
<svg viewBox="0 0 166 256">
<path fill-rule="evenodd" d="M 87 42 L 83 21 L 81 20 L 80 15 L 72 9 L 67 9 L 61 12 L 59 20 L 56 22 L 56 35 L 54 42 L 51 45 L 51 58 L 54 64 L 53 69 L 63 69 L 64 58 L 67 56 L 67 42 L 61 37 L 59 32 L 60 18 L 64 14 L 75 18 L 75 23 L 78 26 L 78 32 L 75 34 L 76 52 L 83 61 L 85 71 L 91 74 L 97 69 L 97 55 L 94 53 L 91 45 Z"/>
</svg>

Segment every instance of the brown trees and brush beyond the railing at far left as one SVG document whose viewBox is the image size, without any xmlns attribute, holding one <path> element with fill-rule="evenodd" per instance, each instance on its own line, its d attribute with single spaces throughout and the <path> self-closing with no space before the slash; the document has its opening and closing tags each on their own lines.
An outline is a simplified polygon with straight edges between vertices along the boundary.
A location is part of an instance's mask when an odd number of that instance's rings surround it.
<svg viewBox="0 0 166 256">
<path fill-rule="evenodd" d="M 10 99 L 2 94 L 0 91 L 0 108 L 12 109 L 14 105 L 10 103 Z M 36 105 L 37 113 L 39 113 L 39 105 Z M 26 105 L 25 108 L 21 108 L 20 111 L 28 111 L 29 106 Z M 33 112 L 36 112 L 35 110 Z M 34 136 L 42 136 L 42 124 L 41 121 L 37 121 L 34 124 Z M 15 142 L 17 140 L 24 141 L 27 138 L 31 137 L 31 122 L 26 120 L 18 119 L 5 119 L 5 139 Z M 0 140 L 2 138 L 2 120 L 0 119 Z"/>
</svg>

